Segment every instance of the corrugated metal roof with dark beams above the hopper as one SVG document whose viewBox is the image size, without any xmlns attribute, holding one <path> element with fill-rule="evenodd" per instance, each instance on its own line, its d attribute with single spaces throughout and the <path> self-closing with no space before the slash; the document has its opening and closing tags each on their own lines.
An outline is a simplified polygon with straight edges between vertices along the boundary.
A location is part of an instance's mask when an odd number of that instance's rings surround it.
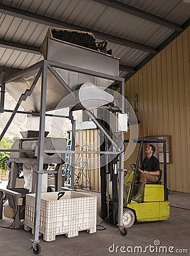
<svg viewBox="0 0 190 256">
<path fill-rule="evenodd" d="M 48 27 L 93 32 L 108 40 L 130 77 L 189 26 L 182 0 L 0 0 L 0 67 L 24 69 L 43 59 Z"/>
</svg>

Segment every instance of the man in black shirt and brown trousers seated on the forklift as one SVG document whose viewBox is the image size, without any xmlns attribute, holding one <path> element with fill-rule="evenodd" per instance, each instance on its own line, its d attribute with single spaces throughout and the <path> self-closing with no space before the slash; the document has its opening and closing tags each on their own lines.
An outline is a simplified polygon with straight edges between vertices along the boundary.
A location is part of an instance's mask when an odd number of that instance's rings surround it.
<svg viewBox="0 0 190 256">
<path fill-rule="evenodd" d="M 156 158 L 153 154 L 156 151 L 155 146 L 150 144 L 146 148 L 147 157 L 143 159 L 141 170 L 143 171 L 141 174 L 137 175 L 136 180 L 139 181 L 139 187 L 137 191 L 137 195 L 132 197 L 132 200 L 141 203 L 142 195 L 144 192 L 145 184 L 147 181 L 158 181 L 158 176 L 160 174 L 160 164 L 158 158 Z"/>
</svg>

